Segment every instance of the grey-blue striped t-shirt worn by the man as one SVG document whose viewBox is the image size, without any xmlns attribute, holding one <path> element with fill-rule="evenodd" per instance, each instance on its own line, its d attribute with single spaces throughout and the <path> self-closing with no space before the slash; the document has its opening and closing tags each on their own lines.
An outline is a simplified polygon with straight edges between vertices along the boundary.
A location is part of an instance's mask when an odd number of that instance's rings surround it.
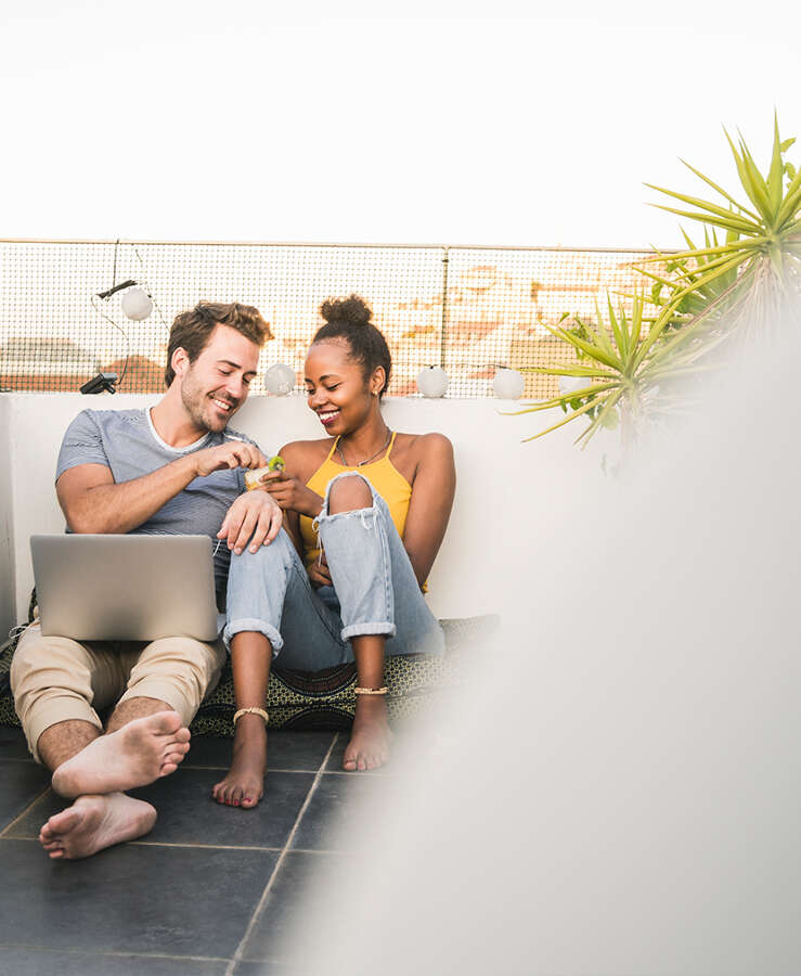
<svg viewBox="0 0 801 976">
<path fill-rule="evenodd" d="M 176 461 L 184 454 L 224 444 L 225 434 L 254 444 L 244 434 L 225 428 L 209 432 L 184 448 L 173 448 L 156 433 L 150 410 L 82 410 L 67 427 L 55 470 L 56 480 L 79 464 L 104 464 L 116 484 L 130 481 Z M 210 536 L 217 547 L 217 532 L 232 502 L 245 490 L 241 467 L 216 471 L 195 478 L 133 529 L 145 535 Z M 215 555 L 215 583 L 219 606 L 224 606 L 225 583 L 231 554 L 222 542 Z"/>
</svg>

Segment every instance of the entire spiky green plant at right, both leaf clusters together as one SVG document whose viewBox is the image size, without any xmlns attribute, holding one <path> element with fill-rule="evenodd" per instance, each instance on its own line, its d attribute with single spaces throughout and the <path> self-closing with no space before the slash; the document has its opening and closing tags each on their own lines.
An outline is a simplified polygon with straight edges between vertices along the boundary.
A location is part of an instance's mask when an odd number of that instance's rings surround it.
<svg viewBox="0 0 801 976">
<path fill-rule="evenodd" d="M 781 141 L 774 116 L 773 152 L 763 176 L 742 137 L 735 145 L 725 134 L 748 203 L 688 163 L 685 166 L 722 197 L 721 203 L 646 184 L 683 205 L 657 205 L 661 209 L 703 226 L 703 246 L 682 231 L 685 251 L 658 253 L 646 262 L 649 267 L 637 269 L 650 284 L 656 314 L 644 316 L 644 298 L 637 295 L 631 317 L 622 309 L 616 312 L 608 300 L 608 324 L 596 306 L 595 328 L 579 320 L 570 328 L 561 322 L 546 326 L 572 347 L 579 364 L 533 367 L 528 372 L 579 377 L 586 384 L 516 411 L 560 407 L 567 414 L 529 440 L 586 416 L 590 424 L 577 442 L 585 446 L 598 427 L 615 426 L 622 419 L 625 444 L 646 409 L 662 412 L 682 406 L 681 399 L 666 395 L 668 381 L 710 369 L 705 357 L 727 341 L 733 326 L 742 321 L 764 326 L 776 318 L 779 303 L 801 293 L 801 170 L 785 159 L 794 140 Z"/>
</svg>

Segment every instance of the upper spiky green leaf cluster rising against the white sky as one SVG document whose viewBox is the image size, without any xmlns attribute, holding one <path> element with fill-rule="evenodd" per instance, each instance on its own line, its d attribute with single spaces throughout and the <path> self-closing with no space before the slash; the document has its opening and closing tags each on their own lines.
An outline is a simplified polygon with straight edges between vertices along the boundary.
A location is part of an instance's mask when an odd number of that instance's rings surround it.
<svg viewBox="0 0 801 976">
<path fill-rule="evenodd" d="M 787 297 L 799 295 L 801 171 L 785 159 L 786 152 L 796 140 L 781 141 L 775 116 L 773 153 L 766 176 L 759 171 L 742 137 L 739 138 L 738 149 L 728 132 L 725 134 L 750 206 L 736 200 L 684 159 L 682 162 L 692 172 L 720 194 L 725 206 L 646 183 L 693 209 L 679 209 L 664 204 L 655 206 L 699 221 L 707 233 L 703 247 L 696 247 L 685 234 L 688 248 L 670 256 L 674 269 L 671 278 L 654 273 L 649 277 L 668 290 L 666 308 L 671 309 L 674 316 L 673 324 L 676 324 L 676 317 L 681 324 L 687 314 L 719 301 L 720 310 L 728 312 L 729 324 L 748 320 L 759 330 L 765 326 Z M 725 243 L 718 242 L 718 232 L 725 234 Z M 660 255 L 655 260 L 664 260 L 664 256 Z M 726 300 L 721 300 L 721 296 Z"/>
</svg>

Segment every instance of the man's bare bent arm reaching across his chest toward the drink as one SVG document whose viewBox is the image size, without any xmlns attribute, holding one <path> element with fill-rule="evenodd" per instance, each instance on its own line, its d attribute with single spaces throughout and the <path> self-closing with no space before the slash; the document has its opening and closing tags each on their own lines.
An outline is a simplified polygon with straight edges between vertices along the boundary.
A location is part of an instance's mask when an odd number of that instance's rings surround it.
<svg viewBox="0 0 801 976">
<path fill-rule="evenodd" d="M 59 504 L 74 532 L 130 532 L 147 522 L 195 478 L 214 471 L 261 467 L 259 449 L 234 440 L 194 451 L 151 474 L 116 484 L 105 464 L 78 464 L 55 483 Z"/>
</svg>

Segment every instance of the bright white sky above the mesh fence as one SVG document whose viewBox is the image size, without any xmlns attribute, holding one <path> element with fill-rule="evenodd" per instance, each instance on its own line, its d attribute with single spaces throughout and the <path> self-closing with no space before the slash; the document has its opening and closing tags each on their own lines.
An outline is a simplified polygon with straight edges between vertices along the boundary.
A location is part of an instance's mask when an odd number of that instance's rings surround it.
<svg viewBox="0 0 801 976">
<path fill-rule="evenodd" d="M 801 134 L 794 0 L 16 7 L 3 236 L 669 245 L 643 181 Z"/>
</svg>

